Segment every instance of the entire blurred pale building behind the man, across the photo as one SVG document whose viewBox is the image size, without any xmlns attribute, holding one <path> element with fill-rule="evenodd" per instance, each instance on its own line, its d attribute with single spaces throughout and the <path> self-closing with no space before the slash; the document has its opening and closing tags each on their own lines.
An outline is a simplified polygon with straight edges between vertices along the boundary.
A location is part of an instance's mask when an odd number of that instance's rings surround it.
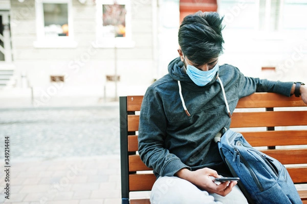
<svg viewBox="0 0 307 204">
<path fill-rule="evenodd" d="M 1 0 L 0 98 L 144 94 L 178 56 L 183 17 L 199 10 L 224 15 L 220 64 L 305 81 L 307 0 Z"/>
</svg>

